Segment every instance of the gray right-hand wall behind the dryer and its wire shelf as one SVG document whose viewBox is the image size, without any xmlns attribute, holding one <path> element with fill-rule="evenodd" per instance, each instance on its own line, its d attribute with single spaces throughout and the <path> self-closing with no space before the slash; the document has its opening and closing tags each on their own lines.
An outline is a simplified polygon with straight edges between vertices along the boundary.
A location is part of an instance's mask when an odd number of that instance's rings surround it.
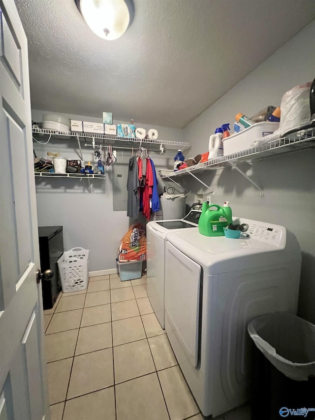
<svg viewBox="0 0 315 420">
<path fill-rule="evenodd" d="M 259 46 L 257 46 L 259 48 Z M 233 63 L 231 63 L 233 65 Z M 280 105 L 290 88 L 315 77 L 315 21 L 294 36 L 252 73 L 205 110 L 185 129 L 192 156 L 208 150 L 209 136 L 223 123 L 234 122 L 238 112 L 251 117 L 267 105 Z M 315 323 L 315 150 L 308 149 L 240 166 L 264 189 L 264 195 L 234 169 L 202 172 L 214 189 L 212 202 L 231 202 L 233 214 L 285 226 L 297 236 L 302 249 L 299 315 Z M 200 184 L 181 176 L 186 188 Z M 190 196 L 190 202 L 193 195 Z"/>
</svg>

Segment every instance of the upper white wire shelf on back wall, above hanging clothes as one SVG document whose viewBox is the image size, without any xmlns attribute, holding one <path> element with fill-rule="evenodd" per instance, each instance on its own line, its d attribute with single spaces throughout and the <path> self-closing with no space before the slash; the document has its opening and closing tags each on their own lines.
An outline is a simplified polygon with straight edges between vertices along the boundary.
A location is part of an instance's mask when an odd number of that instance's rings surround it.
<svg viewBox="0 0 315 420">
<path fill-rule="evenodd" d="M 82 138 L 86 141 L 95 139 L 97 142 L 104 143 L 105 140 L 109 144 L 134 144 L 134 143 L 149 143 L 149 144 L 162 144 L 163 146 L 169 146 L 170 148 L 177 147 L 189 147 L 189 143 L 182 141 L 169 141 L 169 140 L 159 140 L 159 139 L 150 139 L 150 138 L 129 138 L 129 137 L 118 137 L 115 135 L 108 134 L 92 134 L 92 133 L 83 133 L 83 132 L 74 132 L 74 131 L 58 131 L 58 130 L 48 130 L 48 129 L 32 129 L 33 134 L 48 134 L 53 135 L 56 138 L 64 137 L 73 137 L 73 138 Z"/>
</svg>

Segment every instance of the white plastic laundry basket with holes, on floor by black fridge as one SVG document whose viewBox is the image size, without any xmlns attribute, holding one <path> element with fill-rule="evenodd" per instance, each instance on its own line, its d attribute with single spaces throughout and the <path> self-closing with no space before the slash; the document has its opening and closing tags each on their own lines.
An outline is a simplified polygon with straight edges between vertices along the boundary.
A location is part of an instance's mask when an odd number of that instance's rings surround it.
<svg viewBox="0 0 315 420">
<path fill-rule="evenodd" d="M 72 248 L 58 260 L 58 268 L 63 293 L 85 290 L 89 283 L 90 250 Z"/>
</svg>

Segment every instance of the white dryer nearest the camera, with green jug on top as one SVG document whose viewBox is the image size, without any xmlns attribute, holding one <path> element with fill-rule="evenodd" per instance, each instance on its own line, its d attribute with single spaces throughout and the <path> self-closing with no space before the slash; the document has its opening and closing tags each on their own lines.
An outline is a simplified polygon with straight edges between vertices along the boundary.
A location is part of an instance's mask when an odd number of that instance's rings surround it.
<svg viewBox="0 0 315 420">
<path fill-rule="evenodd" d="M 168 233 L 165 330 L 204 416 L 249 400 L 248 323 L 263 314 L 296 314 L 301 251 L 283 226 L 247 219 L 249 238 Z"/>
</svg>

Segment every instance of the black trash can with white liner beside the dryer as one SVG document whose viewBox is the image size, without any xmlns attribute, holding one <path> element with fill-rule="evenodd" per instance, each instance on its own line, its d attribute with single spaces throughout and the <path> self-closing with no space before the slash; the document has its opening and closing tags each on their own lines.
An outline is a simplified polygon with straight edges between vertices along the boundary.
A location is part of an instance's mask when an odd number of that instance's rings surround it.
<svg viewBox="0 0 315 420">
<path fill-rule="evenodd" d="M 276 312 L 248 325 L 253 357 L 252 420 L 315 419 L 315 325 Z"/>
</svg>

